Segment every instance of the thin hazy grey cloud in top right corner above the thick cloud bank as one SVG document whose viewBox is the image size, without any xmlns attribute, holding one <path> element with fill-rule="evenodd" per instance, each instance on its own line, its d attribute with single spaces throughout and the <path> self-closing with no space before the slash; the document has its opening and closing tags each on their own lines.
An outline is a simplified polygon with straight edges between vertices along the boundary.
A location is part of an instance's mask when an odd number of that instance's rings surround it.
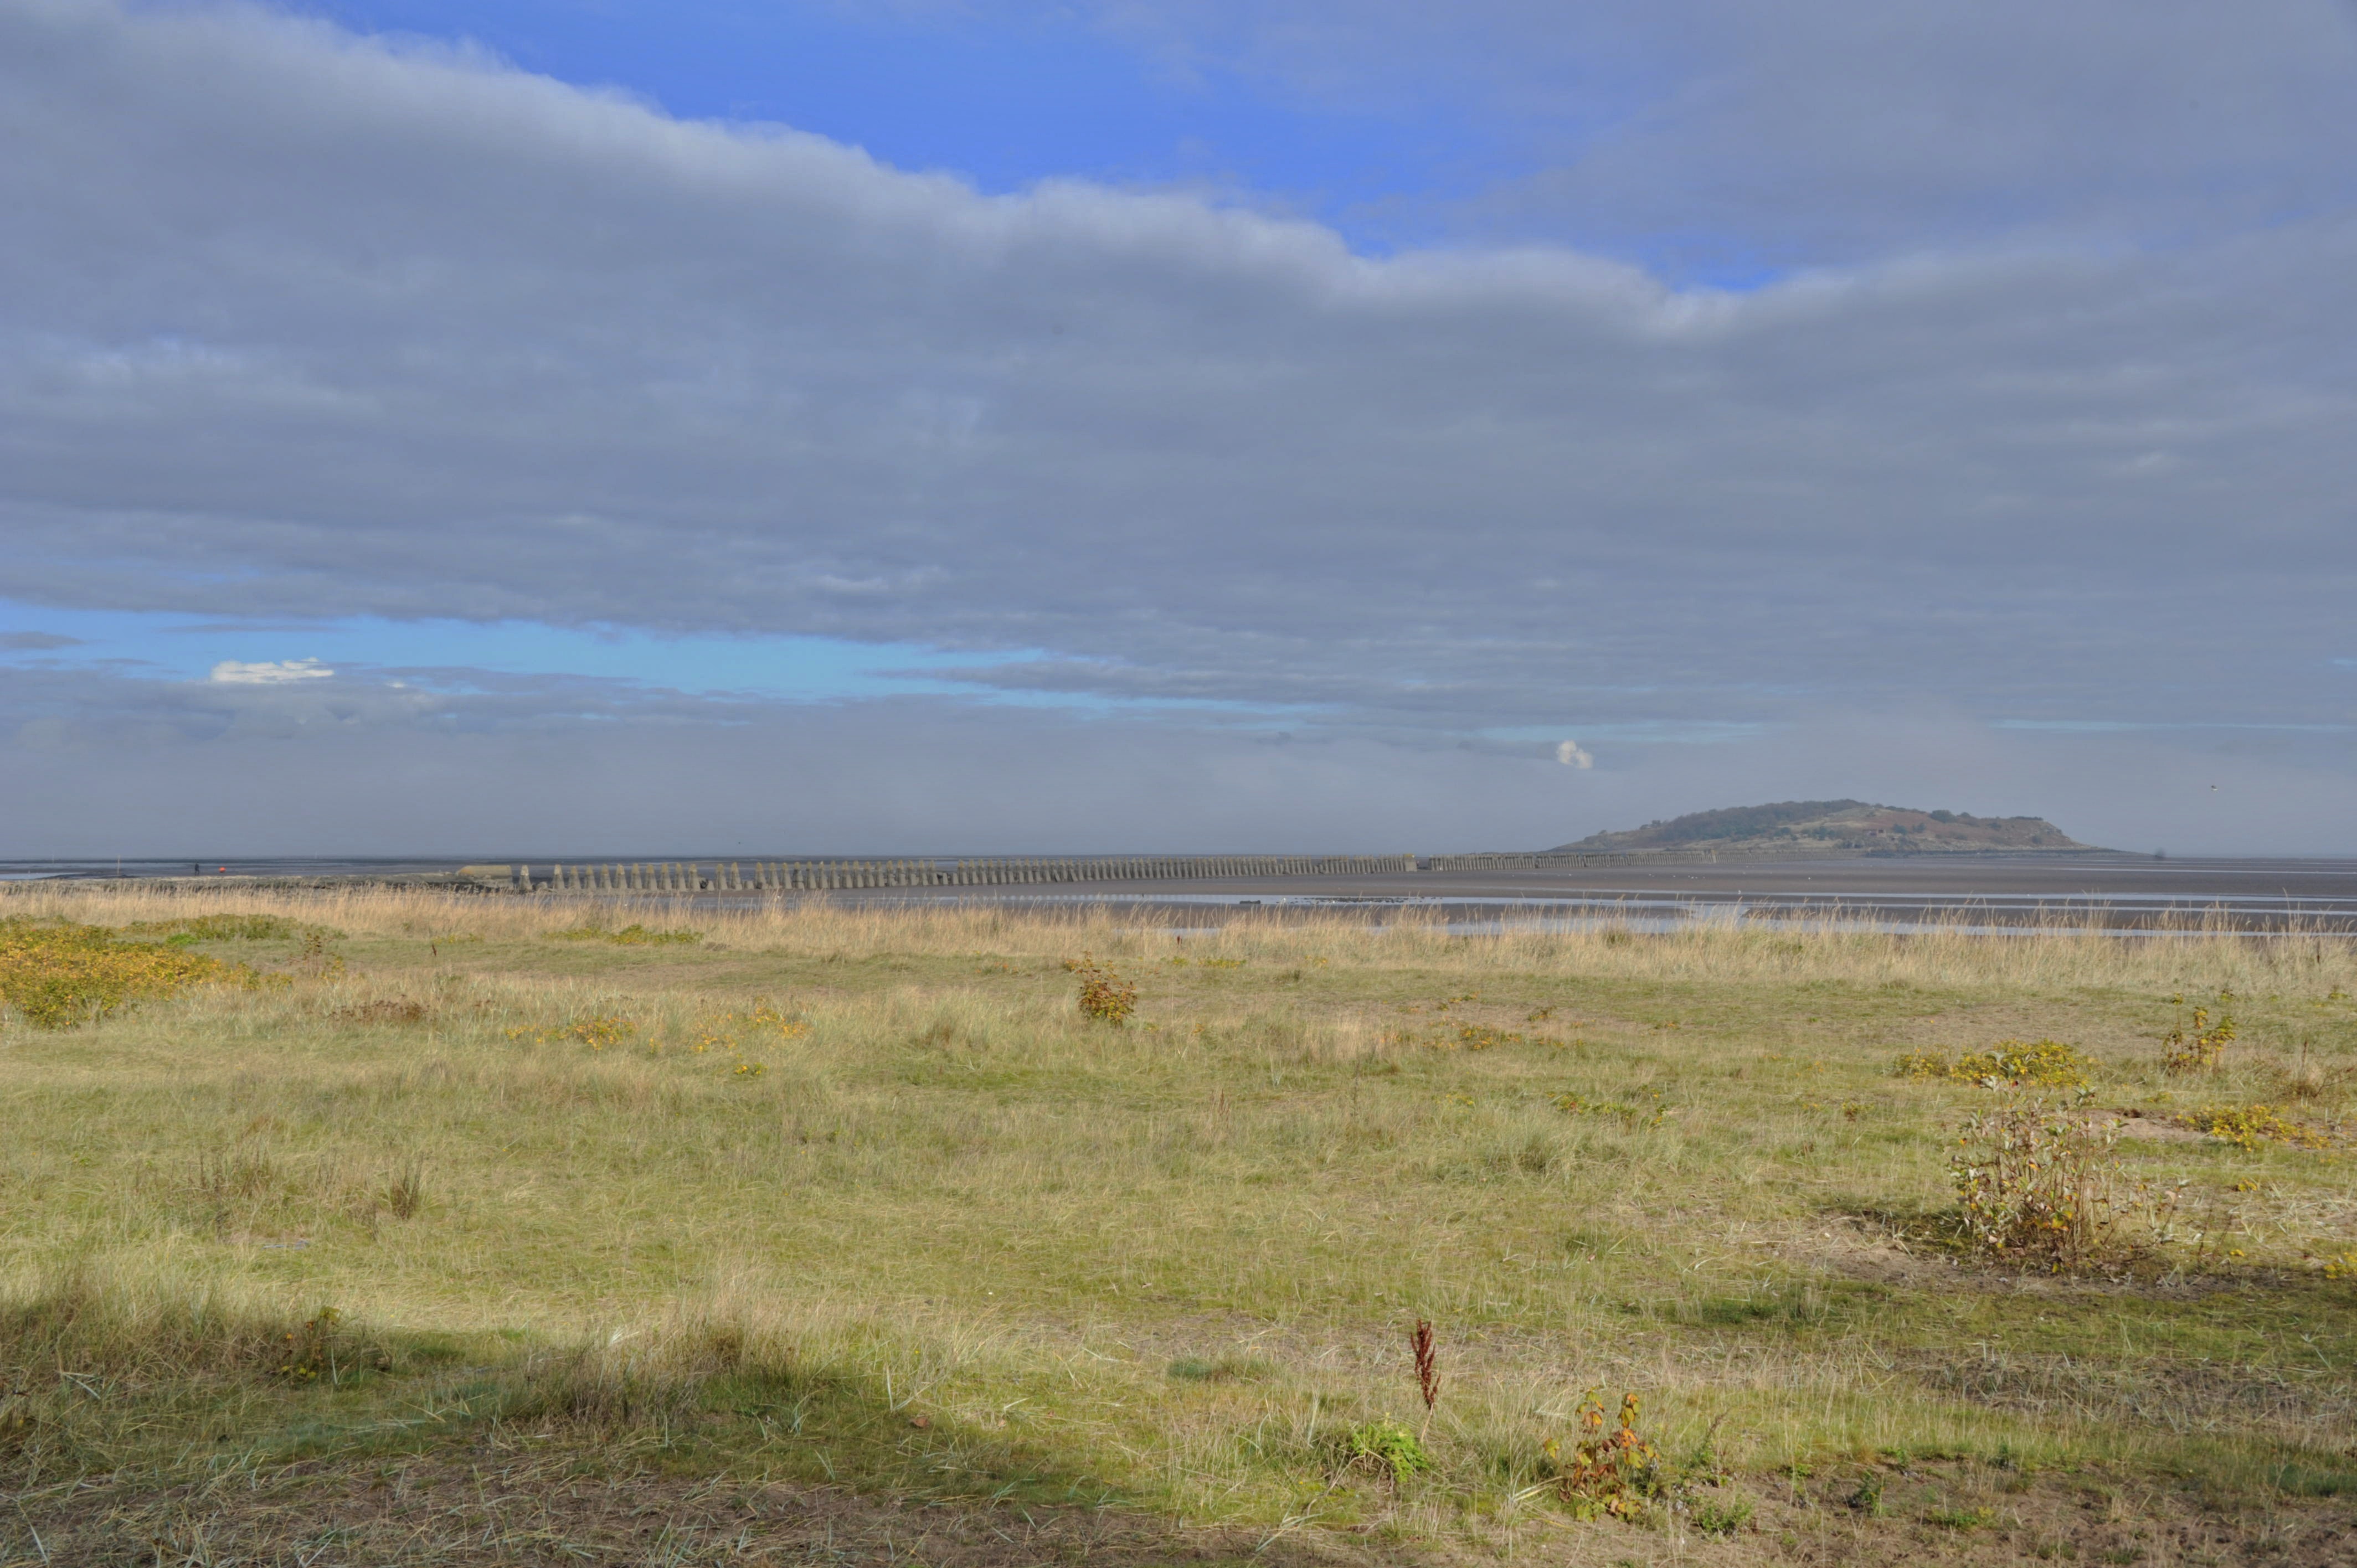
<svg viewBox="0 0 2357 1568">
<path fill-rule="evenodd" d="M 1025 9 L 1025 7 L 1014 7 Z M 2345 210 L 2343 0 L 1164 0 L 1101 24 L 1308 101 L 1464 118 L 1532 172 L 1457 219 L 1699 264 Z"/>
</svg>

